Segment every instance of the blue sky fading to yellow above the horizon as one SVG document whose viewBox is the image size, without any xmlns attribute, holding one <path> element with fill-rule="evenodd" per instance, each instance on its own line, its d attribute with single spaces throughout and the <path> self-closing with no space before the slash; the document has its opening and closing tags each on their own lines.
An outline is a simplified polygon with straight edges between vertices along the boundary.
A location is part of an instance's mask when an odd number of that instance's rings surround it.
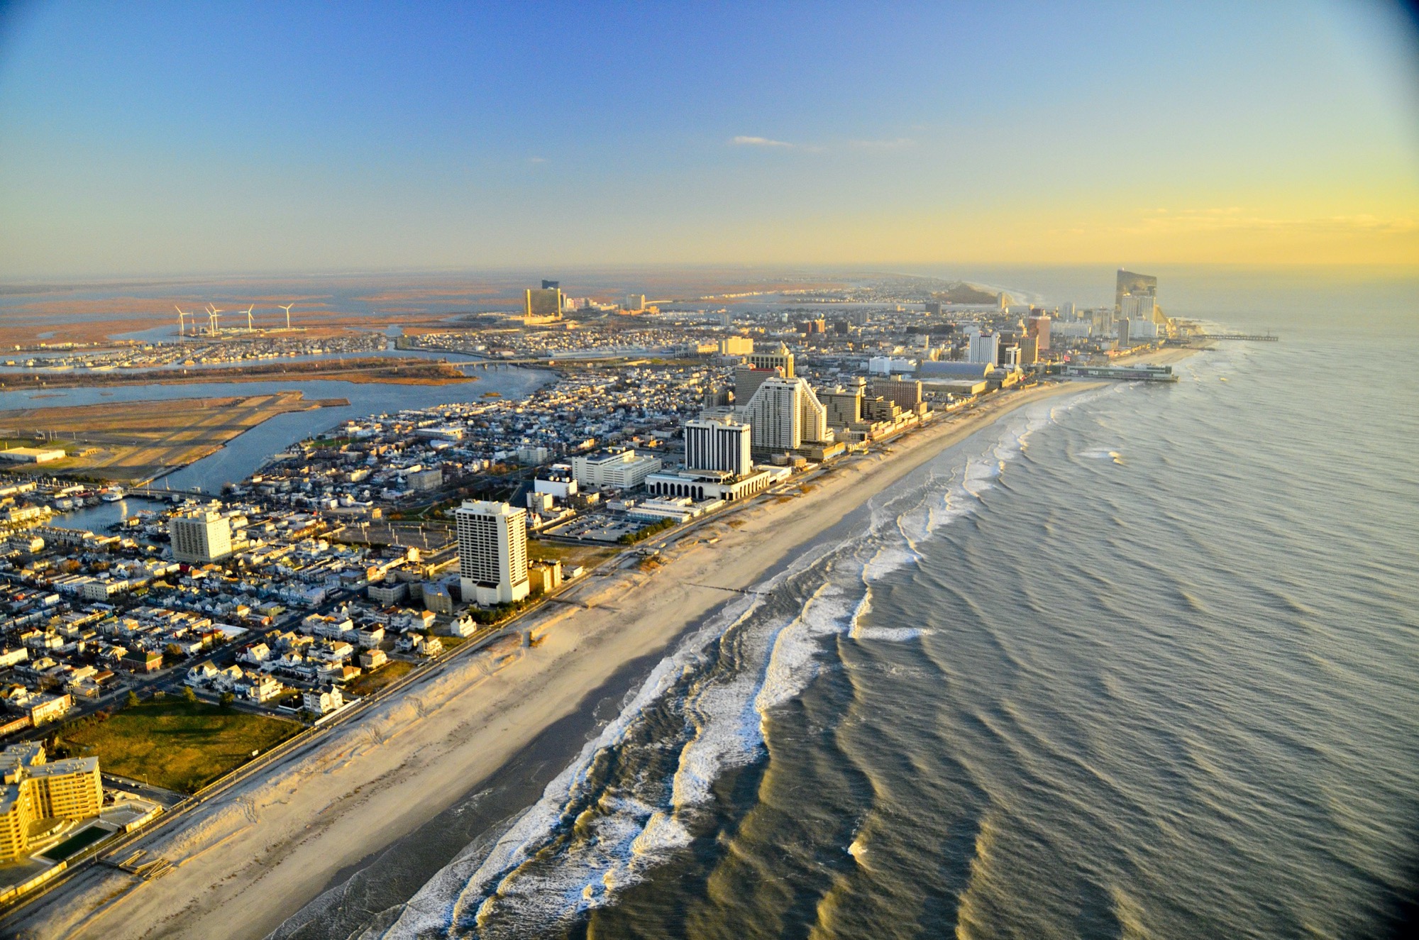
<svg viewBox="0 0 1419 940">
<path fill-rule="evenodd" d="M 1379 0 L 0 0 L 0 278 L 1415 268 L 1415 21 Z"/>
</svg>

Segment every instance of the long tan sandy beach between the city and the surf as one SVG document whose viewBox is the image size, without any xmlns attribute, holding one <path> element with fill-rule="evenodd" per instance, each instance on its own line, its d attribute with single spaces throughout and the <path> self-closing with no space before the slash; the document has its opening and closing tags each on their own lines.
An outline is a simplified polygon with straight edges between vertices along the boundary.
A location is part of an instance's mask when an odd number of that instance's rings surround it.
<svg viewBox="0 0 1419 940">
<path fill-rule="evenodd" d="M 155 882 L 95 866 L 7 924 L 26 937 L 263 937 L 342 870 L 446 809 L 583 706 L 616 670 L 664 650 L 734 596 L 812 545 L 844 514 L 942 449 L 1044 398 L 1059 383 L 993 395 L 890 446 L 844 461 L 795 498 L 768 498 L 702 525 L 646 571 L 603 569 L 545 605 L 538 642 L 517 639 L 446 665 L 339 727 L 318 748 L 213 799 L 142 843 L 173 870 Z M 715 544 L 705 540 L 718 538 Z M 690 584 L 695 582 L 695 584 Z"/>
</svg>

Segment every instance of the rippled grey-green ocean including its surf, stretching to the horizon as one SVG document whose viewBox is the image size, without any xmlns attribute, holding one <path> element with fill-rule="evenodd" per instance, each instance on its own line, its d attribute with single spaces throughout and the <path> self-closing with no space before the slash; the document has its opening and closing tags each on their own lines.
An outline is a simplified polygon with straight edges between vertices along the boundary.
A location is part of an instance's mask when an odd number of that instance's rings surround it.
<svg viewBox="0 0 1419 940">
<path fill-rule="evenodd" d="M 1100 301 L 1051 277 L 990 283 Z M 277 936 L 1384 934 L 1419 862 L 1416 284 L 1174 284 L 1281 342 L 946 449 L 532 748 L 541 799 L 470 781 Z"/>
</svg>

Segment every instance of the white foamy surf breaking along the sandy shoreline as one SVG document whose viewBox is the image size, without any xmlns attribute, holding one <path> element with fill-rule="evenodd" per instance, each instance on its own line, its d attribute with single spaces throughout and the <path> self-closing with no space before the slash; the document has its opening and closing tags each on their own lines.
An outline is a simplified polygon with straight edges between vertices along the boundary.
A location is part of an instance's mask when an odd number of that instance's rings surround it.
<svg viewBox="0 0 1419 940">
<path fill-rule="evenodd" d="M 921 558 L 918 545 L 932 532 L 982 507 L 982 493 L 996 486 L 1006 464 L 1025 453 L 1030 433 L 1049 423 L 1051 412 L 1023 409 L 998 426 L 1000 436 L 982 453 L 962 461 L 948 453 L 924 486 L 874 498 L 867 532 L 806 552 L 788 571 L 761 588 L 780 588 L 810 567 L 823 567 L 822 581 L 792 616 L 761 616 L 762 595 L 731 603 L 719 616 L 663 659 L 622 713 L 543 789 L 491 851 L 460 856 L 431 879 L 382 936 L 413 937 L 446 933 L 474 917 L 497 914 L 514 923 L 552 924 L 607 903 L 617 890 L 671 858 L 691 841 L 690 822 L 712 797 L 714 781 L 763 753 L 769 713 L 799 696 L 820 669 L 823 639 L 849 633 L 870 640 L 911 640 L 920 628 L 863 626 L 871 609 L 871 585 Z M 949 466 L 948 466 L 949 464 Z M 725 639 L 735 632 L 734 639 Z M 732 669 L 705 674 L 708 647 L 721 640 Z M 728 643 L 728 649 L 725 649 Z M 629 733 L 651 706 L 683 694 L 685 740 L 670 771 L 663 797 L 592 792 L 596 755 L 627 744 Z M 673 711 L 674 711 L 673 709 Z M 644 781 L 641 781 L 644 782 Z M 582 807 L 576 831 L 566 832 L 569 812 Z M 562 835 L 558 835 L 562 834 Z M 552 848 L 555 862 L 535 860 Z M 853 851 L 856 849 L 856 851 Z M 866 849 L 854 841 L 853 855 Z"/>
</svg>

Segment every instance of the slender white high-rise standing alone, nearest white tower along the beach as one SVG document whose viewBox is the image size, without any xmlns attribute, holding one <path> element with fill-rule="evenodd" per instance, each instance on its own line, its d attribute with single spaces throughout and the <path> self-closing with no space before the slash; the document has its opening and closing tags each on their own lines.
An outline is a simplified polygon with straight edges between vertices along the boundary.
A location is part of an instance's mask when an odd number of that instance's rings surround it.
<svg viewBox="0 0 1419 940">
<path fill-rule="evenodd" d="M 464 603 L 512 603 L 528 596 L 526 510 L 465 500 L 458 525 L 458 584 Z"/>
</svg>

